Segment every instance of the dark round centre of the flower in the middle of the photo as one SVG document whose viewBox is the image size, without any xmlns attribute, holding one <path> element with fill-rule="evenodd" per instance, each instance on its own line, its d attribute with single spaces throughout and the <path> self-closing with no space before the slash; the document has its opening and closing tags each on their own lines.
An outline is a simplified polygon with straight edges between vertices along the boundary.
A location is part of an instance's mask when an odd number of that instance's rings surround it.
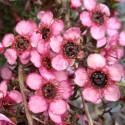
<svg viewBox="0 0 125 125">
<path fill-rule="evenodd" d="M 79 46 L 74 42 L 67 42 L 63 45 L 63 53 L 68 58 L 75 58 L 78 55 Z"/>
</svg>

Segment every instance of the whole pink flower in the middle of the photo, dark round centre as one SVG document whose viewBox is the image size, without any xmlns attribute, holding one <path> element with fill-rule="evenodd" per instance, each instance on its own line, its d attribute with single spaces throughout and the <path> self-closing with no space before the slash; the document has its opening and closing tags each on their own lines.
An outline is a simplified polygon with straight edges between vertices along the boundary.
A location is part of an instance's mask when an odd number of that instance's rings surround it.
<svg viewBox="0 0 125 125">
<path fill-rule="evenodd" d="M 60 35 L 51 38 L 51 49 L 57 53 L 52 59 L 52 67 L 56 70 L 64 70 L 73 65 L 75 58 L 83 58 L 84 53 L 80 49 L 80 29 L 72 27 L 64 33 L 64 38 Z"/>
</svg>

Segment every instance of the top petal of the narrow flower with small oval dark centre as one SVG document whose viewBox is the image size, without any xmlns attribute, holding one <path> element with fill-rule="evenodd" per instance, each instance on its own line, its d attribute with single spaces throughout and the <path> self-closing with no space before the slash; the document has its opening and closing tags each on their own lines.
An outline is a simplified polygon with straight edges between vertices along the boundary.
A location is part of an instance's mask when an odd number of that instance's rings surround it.
<svg viewBox="0 0 125 125">
<path fill-rule="evenodd" d="M 50 25 L 53 21 L 53 13 L 51 11 L 42 13 L 40 20 L 42 23 Z"/>
</svg>

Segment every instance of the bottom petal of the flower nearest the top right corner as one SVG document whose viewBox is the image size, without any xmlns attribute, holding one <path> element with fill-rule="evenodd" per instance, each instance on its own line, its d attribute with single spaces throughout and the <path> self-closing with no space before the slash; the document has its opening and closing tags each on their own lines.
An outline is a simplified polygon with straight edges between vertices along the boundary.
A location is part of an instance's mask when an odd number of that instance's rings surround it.
<svg viewBox="0 0 125 125">
<path fill-rule="evenodd" d="M 90 33 L 94 39 L 102 39 L 105 36 L 106 30 L 103 27 L 92 26 Z"/>
</svg>

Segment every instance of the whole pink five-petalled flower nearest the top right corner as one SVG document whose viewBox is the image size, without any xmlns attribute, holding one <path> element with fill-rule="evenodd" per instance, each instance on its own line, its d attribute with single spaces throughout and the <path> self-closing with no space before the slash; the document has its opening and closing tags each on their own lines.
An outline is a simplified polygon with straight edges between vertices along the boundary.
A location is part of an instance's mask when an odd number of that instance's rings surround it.
<svg viewBox="0 0 125 125">
<path fill-rule="evenodd" d="M 97 4 L 96 0 L 83 0 L 88 11 L 80 14 L 80 20 L 84 26 L 90 27 L 90 33 L 94 39 L 102 39 L 109 30 L 118 30 L 121 23 L 114 17 L 109 18 L 109 8 L 104 4 Z"/>
</svg>

